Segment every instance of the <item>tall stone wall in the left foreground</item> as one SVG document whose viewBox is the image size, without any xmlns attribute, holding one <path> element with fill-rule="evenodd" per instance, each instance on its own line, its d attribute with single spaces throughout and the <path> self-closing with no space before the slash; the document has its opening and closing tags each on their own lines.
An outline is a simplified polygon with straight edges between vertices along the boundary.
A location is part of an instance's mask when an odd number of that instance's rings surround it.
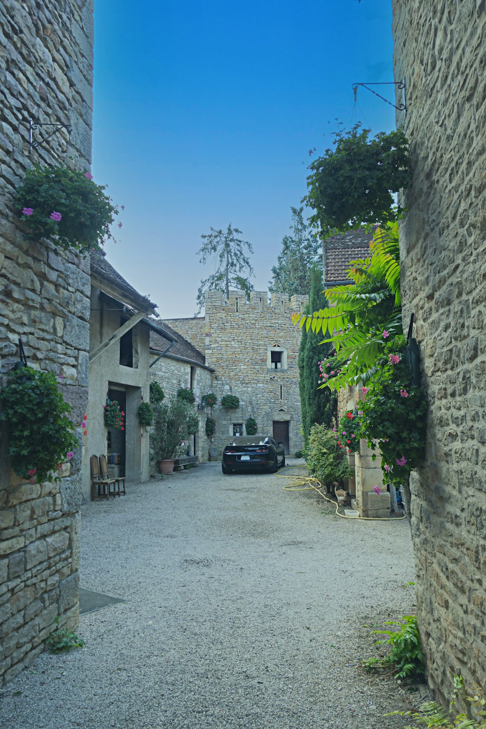
<svg viewBox="0 0 486 729">
<path fill-rule="evenodd" d="M 60 133 L 29 155 L 29 119 L 73 126 L 69 165 L 91 158 L 93 3 L 4 0 L 0 4 L 0 387 L 19 359 L 59 375 L 63 394 L 85 414 L 89 262 L 24 240 L 13 195 L 33 163 L 63 163 Z M 47 136 L 49 128 L 34 132 Z M 0 434 L 0 682 L 44 650 L 55 618 L 76 625 L 81 444 L 60 483 L 31 484 L 9 468 Z"/>
</svg>

